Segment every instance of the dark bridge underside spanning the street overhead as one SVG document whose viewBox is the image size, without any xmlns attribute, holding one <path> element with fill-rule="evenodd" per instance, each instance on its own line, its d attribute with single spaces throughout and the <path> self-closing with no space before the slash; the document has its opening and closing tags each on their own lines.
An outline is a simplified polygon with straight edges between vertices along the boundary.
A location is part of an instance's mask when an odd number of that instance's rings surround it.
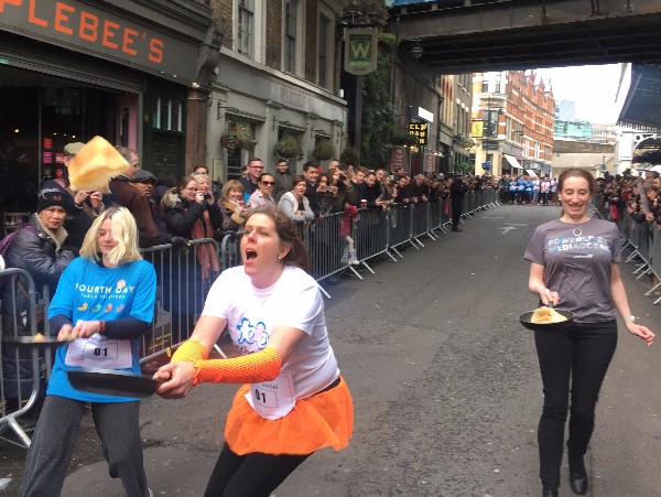
<svg viewBox="0 0 661 497">
<path fill-rule="evenodd" d="M 420 62 L 440 74 L 661 63 L 659 0 L 462 3 L 468 7 L 391 9 L 400 51 L 420 44 Z"/>
</svg>

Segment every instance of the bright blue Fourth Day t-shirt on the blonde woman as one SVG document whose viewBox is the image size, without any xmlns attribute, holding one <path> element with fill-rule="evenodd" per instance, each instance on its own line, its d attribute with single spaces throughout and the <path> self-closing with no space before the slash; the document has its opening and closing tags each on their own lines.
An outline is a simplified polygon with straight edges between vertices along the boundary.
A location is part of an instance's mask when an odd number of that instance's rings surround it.
<svg viewBox="0 0 661 497">
<path fill-rule="evenodd" d="M 117 268 L 102 268 L 88 259 L 78 257 L 64 270 L 57 291 L 48 309 L 48 318 L 65 315 L 75 325 L 78 321 L 115 321 L 134 317 L 151 323 L 156 298 L 156 272 L 154 267 L 137 260 Z M 131 342 L 132 364 L 118 369 L 140 374 L 140 338 Z M 80 369 L 65 364 L 68 345 L 57 347 L 55 364 L 47 395 L 66 397 L 85 402 L 126 402 L 136 398 L 87 393 L 72 387 L 67 370 Z M 102 361 L 99 368 L 104 368 Z"/>
</svg>

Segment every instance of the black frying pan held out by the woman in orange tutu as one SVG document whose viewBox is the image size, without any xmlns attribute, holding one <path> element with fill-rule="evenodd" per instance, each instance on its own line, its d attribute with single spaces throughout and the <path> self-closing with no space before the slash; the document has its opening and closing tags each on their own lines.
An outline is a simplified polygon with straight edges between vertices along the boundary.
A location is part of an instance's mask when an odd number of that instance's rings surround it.
<svg viewBox="0 0 661 497">
<path fill-rule="evenodd" d="M 76 369 L 66 375 L 75 389 L 105 396 L 144 398 L 155 393 L 161 383 L 149 375 L 117 369 Z"/>
</svg>

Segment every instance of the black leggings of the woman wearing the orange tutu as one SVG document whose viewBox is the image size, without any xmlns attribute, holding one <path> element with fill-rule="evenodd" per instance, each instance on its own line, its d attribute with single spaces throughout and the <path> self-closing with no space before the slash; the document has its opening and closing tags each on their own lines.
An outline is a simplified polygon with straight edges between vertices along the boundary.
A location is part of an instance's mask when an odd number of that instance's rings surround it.
<svg viewBox="0 0 661 497">
<path fill-rule="evenodd" d="M 307 455 L 237 455 L 227 444 L 218 456 L 205 497 L 268 497 Z"/>
</svg>

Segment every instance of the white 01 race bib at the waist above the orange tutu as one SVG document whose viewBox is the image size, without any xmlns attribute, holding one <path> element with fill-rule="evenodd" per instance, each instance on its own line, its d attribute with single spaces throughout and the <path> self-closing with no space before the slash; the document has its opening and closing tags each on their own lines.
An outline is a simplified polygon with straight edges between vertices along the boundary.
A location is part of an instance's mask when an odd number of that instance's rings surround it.
<svg viewBox="0 0 661 497">
<path fill-rule="evenodd" d="M 273 381 L 252 383 L 246 400 L 254 411 L 267 420 L 285 417 L 294 409 L 296 395 L 292 376 L 280 375 Z"/>
</svg>

